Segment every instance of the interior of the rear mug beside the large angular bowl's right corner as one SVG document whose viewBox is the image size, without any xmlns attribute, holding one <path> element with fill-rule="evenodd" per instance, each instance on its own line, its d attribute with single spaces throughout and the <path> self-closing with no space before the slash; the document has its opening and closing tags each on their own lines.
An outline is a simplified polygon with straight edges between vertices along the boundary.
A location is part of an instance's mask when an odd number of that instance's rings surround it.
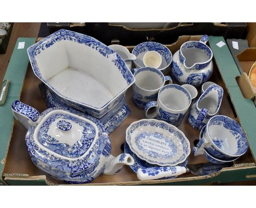
<svg viewBox="0 0 256 208">
<path fill-rule="evenodd" d="M 164 75 L 153 68 L 141 68 L 135 73 L 135 84 L 144 90 L 156 90 L 164 85 Z"/>
</svg>

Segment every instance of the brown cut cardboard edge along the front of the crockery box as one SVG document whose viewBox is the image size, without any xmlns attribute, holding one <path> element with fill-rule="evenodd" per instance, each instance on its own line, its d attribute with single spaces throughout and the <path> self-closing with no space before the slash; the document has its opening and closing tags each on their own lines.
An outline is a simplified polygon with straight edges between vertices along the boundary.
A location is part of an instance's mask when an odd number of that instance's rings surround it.
<svg viewBox="0 0 256 208">
<path fill-rule="evenodd" d="M 168 183 L 168 182 L 179 182 L 179 181 L 192 181 L 192 180 L 203 180 L 208 178 L 216 177 L 217 175 L 227 172 L 230 170 L 248 169 L 255 168 L 255 163 L 242 163 L 234 164 L 229 168 L 223 168 L 217 173 L 205 175 L 205 176 L 192 176 L 186 178 L 176 178 L 169 180 L 147 180 L 147 181 L 127 181 L 127 182 L 105 182 L 105 183 L 84 183 L 84 184 L 56 184 L 47 180 L 46 175 L 30 176 L 28 174 L 4 174 L 4 180 L 44 180 L 47 185 L 59 185 L 59 186 L 110 186 L 110 185 L 150 185 L 154 183 Z M 247 178 L 252 178 L 248 176 Z M 254 178 L 254 177 L 253 177 Z M 6 182 L 5 182 L 6 183 Z"/>
</svg>

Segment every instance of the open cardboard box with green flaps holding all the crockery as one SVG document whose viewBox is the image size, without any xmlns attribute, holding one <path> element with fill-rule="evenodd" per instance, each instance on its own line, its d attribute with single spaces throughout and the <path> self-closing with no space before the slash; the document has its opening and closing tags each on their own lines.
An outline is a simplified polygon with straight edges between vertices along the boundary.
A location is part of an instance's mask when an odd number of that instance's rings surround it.
<svg viewBox="0 0 256 208">
<path fill-rule="evenodd" d="M 179 47 L 189 40 L 199 40 L 200 36 L 181 36 L 174 44 L 167 45 L 172 53 L 176 52 Z M 20 40 L 19 40 L 20 41 Z M 223 37 L 211 36 L 210 47 L 214 54 L 214 73 L 211 81 L 220 84 L 224 88 L 224 96 L 220 114 L 228 115 L 229 117 L 239 120 L 243 129 L 247 133 L 250 148 L 245 155 L 240 157 L 234 162 L 234 166 L 230 168 L 223 168 L 219 172 L 207 176 L 196 176 L 191 173 L 186 173 L 178 176 L 176 179 L 171 180 L 152 180 L 152 181 L 139 181 L 135 173 L 129 167 L 124 167 L 123 170 L 117 175 L 100 175 L 96 180 L 86 185 L 201 185 L 212 182 L 232 182 L 232 181 L 246 181 L 256 179 L 256 166 L 253 152 L 256 152 L 255 142 L 255 106 L 251 100 L 247 100 L 242 96 L 240 88 L 236 82 L 236 76 L 239 76 L 239 71 L 232 58 L 228 46 L 219 48 L 216 44 L 219 41 L 224 41 Z M 33 39 L 30 40 L 32 44 Z M 128 47 L 132 50 L 133 46 Z M 11 79 L 10 90 L 7 95 L 7 101 L 0 107 L 0 113 L 4 113 L 1 118 L 0 128 L 7 127 L 3 137 L 1 134 L 1 148 L 4 152 L 0 152 L 3 164 L 1 167 L 1 179 L 6 185 L 58 185 L 65 184 L 62 181 L 57 181 L 49 175 L 39 170 L 32 161 L 26 149 L 25 134 L 26 130 L 17 122 L 14 121 L 13 115 L 10 110 L 10 104 L 20 99 L 22 102 L 27 103 L 38 109 L 39 112 L 44 111 L 46 108 L 40 95 L 38 84 L 39 79 L 33 74 L 31 66 L 28 67 L 25 82 L 22 88 L 23 81 L 17 81 L 13 64 L 18 64 L 21 57 L 25 57 L 26 51 L 22 54 L 17 54 L 15 47 L 14 54 L 8 66 L 7 75 Z M 23 59 L 22 59 L 23 60 Z M 28 59 L 26 57 L 26 65 Z M 29 64 L 30 65 L 30 64 Z M 22 65 L 22 72 L 20 76 L 24 78 L 25 64 Z M 14 73 L 10 75 L 11 71 Z M 170 71 L 169 71 L 170 73 Z M 5 77 L 7 78 L 7 77 Z M 21 79 L 22 79 L 21 78 Z M 14 87 L 17 87 L 15 90 Z M 12 88 L 13 87 L 13 88 Z M 20 97 L 20 90 L 22 93 Z M 230 96 L 230 97 L 229 97 Z M 144 112 L 136 108 L 131 101 L 131 89 L 127 91 L 126 101 L 131 109 L 131 115 L 121 124 L 117 130 L 110 134 L 112 141 L 112 154 L 117 156 L 121 153 L 120 146 L 125 140 L 125 130 L 133 122 L 144 118 Z M 254 112 L 250 112 L 254 106 Z M 243 106 L 243 108 L 242 108 Z M 245 109 L 246 108 L 246 109 Z M 234 111 L 232 110 L 234 109 Z M 248 109 L 248 110 L 247 110 Z M 1 114 L 2 115 L 2 114 Z M 14 121 L 14 122 L 13 122 Z M 190 145 L 193 146 L 194 140 L 199 138 L 199 131 L 194 130 L 184 118 L 182 124 L 178 126 L 184 134 L 188 137 Z M 4 154 L 3 154 L 4 153 Z M 189 156 L 189 164 L 198 164 L 207 162 L 203 156 L 194 157 L 192 153 Z"/>
</svg>

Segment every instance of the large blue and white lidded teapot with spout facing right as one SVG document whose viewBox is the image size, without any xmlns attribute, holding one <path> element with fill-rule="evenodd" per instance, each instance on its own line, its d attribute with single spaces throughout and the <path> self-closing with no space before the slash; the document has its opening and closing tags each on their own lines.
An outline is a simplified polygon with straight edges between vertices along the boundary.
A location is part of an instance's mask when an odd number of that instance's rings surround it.
<svg viewBox="0 0 256 208">
<path fill-rule="evenodd" d="M 124 164 L 134 162 L 129 154 L 110 155 L 108 132 L 90 115 L 60 108 L 39 114 L 18 100 L 11 108 L 28 129 L 26 145 L 32 162 L 57 180 L 88 183 L 100 174 L 119 173 Z"/>
</svg>

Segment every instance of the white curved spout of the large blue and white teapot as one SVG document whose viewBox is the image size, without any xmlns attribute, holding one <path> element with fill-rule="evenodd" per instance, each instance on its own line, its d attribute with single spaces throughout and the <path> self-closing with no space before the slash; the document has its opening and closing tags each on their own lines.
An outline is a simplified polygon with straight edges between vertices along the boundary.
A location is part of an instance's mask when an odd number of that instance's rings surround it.
<svg viewBox="0 0 256 208">
<path fill-rule="evenodd" d="M 120 154 L 117 157 L 110 155 L 104 170 L 105 175 L 114 175 L 121 171 L 124 165 L 132 166 L 134 159 L 129 154 Z"/>
</svg>

